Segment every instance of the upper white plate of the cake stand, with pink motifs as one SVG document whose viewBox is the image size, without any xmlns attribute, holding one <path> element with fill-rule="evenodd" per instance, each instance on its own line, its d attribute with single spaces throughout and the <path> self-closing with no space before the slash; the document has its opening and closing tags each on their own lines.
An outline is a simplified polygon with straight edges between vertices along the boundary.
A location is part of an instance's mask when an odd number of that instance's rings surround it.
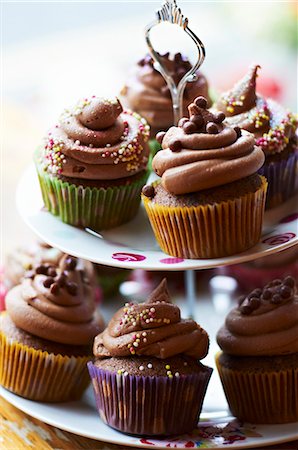
<svg viewBox="0 0 298 450">
<path fill-rule="evenodd" d="M 43 209 L 33 166 L 26 170 L 19 182 L 17 208 L 26 224 L 53 247 L 99 264 L 129 269 L 206 269 L 250 261 L 298 243 L 297 197 L 265 214 L 262 238 L 250 250 L 227 258 L 200 260 L 183 260 L 163 253 L 142 207 L 134 220 L 100 235 L 61 222 Z"/>
</svg>

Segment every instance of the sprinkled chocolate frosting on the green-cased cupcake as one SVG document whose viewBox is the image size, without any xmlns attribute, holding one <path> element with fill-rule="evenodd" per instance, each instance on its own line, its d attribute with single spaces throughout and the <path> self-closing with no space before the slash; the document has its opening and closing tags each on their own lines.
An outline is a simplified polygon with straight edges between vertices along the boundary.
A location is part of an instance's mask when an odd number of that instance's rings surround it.
<svg viewBox="0 0 298 450">
<path fill-rule="evenodd" d="M 117 98 L 86 98 L 64 111 L 42 149 L 50 174 L 88 180 L 114 180 L 142 171 L 148 161 L 149 125 L 123 111 Z"/>
</svg>

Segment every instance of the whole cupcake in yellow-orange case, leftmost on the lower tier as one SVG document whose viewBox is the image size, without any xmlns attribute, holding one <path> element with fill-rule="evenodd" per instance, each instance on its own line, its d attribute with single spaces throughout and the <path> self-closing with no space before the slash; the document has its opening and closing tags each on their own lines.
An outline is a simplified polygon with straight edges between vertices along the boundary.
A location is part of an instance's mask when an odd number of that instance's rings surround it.
<svg viewBox="0 0 298 450">
<path fill-rule="evenodd" d="M 6 295 L 0 316 L 0 384 L 31 400 L 79 398 L 89 384 L 86 363 L 103 328 L 82 260 L 37 266 Z"/>
</svg>

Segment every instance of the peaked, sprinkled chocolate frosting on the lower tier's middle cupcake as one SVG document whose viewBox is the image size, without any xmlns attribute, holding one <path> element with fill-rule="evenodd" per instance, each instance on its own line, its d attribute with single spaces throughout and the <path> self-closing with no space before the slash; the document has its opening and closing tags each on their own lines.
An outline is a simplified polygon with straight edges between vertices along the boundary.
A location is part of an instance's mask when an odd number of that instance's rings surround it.
<svg viewBox="0 0 298 450">
<path fill-rule="evenodd" d="M 114 314 L 96 336 L 93 353 L 96 358 L 186 355 L 200 360 L 208 347 L 206 331 L 191 319 L 181 319 L 164 279 L 145 303 L 126 303 Z"/>
</svg>

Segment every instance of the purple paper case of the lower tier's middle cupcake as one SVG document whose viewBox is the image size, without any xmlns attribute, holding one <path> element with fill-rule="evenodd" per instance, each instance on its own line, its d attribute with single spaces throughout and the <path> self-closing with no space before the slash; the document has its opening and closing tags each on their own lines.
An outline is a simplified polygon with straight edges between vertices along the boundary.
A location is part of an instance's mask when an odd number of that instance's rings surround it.
<svg viewBox="0 0 298 450">
<path fill-rule="evenodd" d="M 88 363 L 101 419 L 129 434 L 158 436 L 193 430 L 212 369 L 179 377 L 118 375 Z"/>
</svg>

